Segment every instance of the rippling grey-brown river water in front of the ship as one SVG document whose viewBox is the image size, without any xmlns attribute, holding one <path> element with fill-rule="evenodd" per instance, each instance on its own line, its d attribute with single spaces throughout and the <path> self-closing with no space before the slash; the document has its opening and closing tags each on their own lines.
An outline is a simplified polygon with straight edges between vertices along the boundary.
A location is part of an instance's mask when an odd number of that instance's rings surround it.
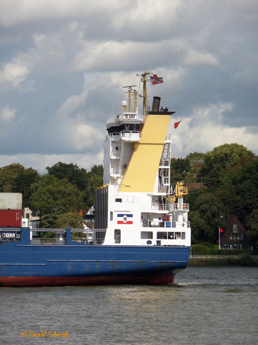
<svg viewBox="0 0 258 345">
<path fill-rule="evenodd" d="M 256 267 L 188 266 L 166 286 L 1 288 L 0 294 L 1 345 L 258 343 Z"/>
</svg>

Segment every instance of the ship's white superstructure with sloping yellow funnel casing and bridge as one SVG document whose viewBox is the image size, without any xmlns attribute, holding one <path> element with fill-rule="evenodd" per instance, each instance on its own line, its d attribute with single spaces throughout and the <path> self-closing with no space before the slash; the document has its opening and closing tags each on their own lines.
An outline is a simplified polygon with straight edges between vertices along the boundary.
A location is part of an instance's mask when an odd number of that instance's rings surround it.
<svg viewBox="0 0 258 345">
<path fill-rule="evenodd" d="M 170 186 L 167 130 L 174 112 L 160 111 L 154 97 L 152 111 L 141 115 L 137 92 L 129 87 L 128 93 L 128 107 L 123 101 L 122 114 L 107 119 L 104 186 L 96 195 L 96 228 L 106 229 L 101 244 L 190 246 L 187 188 L 182 182 Z"/>
</svg>

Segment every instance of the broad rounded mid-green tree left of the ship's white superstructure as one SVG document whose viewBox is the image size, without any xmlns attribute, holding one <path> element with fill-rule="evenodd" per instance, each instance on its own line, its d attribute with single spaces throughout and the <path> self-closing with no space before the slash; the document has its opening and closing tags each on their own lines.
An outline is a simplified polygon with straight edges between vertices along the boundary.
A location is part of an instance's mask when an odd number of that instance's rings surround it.
<svg viewBox="0 0 258 345">
<path fill-rule="evenodd" d="M 32 195 L 29 199 L 31 209 L 45 214 L 62 214 L 83 208 L 83 193 L 67 179 L 46 174 L 31 186 Z"/>
</svg>

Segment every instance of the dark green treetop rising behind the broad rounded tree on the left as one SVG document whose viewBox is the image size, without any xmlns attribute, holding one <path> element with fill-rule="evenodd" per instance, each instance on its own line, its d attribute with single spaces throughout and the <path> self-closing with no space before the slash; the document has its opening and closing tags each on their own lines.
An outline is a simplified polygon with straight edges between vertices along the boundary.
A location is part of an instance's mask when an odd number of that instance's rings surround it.
<svg viewBox="0 0 258 345">
<path fill-rule="evenodd" d="M 76 185 L 79 190 L 86 188 L 87 171 L 84 168 L 79 168 L 77 164 L 58 162 L 52 167 L 46 167 L 46 170 L 59 180 L 66 178 L 71 185 Z"/>
</svg>

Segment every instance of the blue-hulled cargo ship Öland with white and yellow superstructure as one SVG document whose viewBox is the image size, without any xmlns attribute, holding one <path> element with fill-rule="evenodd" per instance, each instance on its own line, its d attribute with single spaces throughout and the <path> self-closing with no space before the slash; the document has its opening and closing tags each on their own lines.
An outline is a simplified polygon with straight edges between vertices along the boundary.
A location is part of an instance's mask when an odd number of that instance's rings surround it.
<svg viewBox="0 0 258 345">
<path fill-rule="evenodd" d="M 0 285 L 170 284 L 186 268 L 191 245 L 187 188 L 170 185 L 173 111 L 126 86 L 122 112 L 107 119 L 104 185 L 96 190 L 95 228 L 0 229 Z M 153 78 L 153 77 L 152 77 Z M 143 98 L 142 114 L 138 97 Z M 40 238 L 43 231 L 55 238 Z M 73 232 L 83 232 L 75 240 Z"/>
</svg>

